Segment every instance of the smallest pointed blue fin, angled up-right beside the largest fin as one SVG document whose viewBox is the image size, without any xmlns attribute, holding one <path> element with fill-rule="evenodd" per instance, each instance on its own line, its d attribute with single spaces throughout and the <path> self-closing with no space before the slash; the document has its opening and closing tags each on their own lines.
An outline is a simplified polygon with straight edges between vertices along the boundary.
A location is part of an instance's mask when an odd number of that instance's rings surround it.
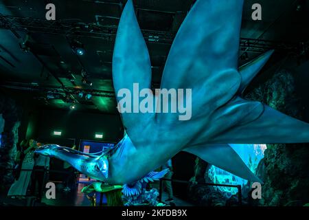
<svg viewBox="0 0 309 220">
<path fill-rule="evenodd" d="M 273 52 L 274 50 L 270 50 L 239 68 L 240 75 L 242 76 L 242 83 L 238 89 L 239 94 L 242 94 L 242 91 L 246 89 L 253 78 L 260 72 L 269 58 L 271 58 L 271 55 L 273 55 Z"/>
</svg>

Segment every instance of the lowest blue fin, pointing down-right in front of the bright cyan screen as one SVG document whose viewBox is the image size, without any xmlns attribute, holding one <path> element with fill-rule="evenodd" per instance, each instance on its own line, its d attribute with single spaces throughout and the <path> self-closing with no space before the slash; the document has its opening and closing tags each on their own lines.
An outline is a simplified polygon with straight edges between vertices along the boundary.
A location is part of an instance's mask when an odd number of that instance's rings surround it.
<svg viewBox="0 0 309 220">
<path fill-rule="evenodd" d="M 204 144 L 185 148 L 183 151 L 201 157 L 209 164 L 222 168 L 233 175 L 262 183 L 229 144 Z"/>
</svg>

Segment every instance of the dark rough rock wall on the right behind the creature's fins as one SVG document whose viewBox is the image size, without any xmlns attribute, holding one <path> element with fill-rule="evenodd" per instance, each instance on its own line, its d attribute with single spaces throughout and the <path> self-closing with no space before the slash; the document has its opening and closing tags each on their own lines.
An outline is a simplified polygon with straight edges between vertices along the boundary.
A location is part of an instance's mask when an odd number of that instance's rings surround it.
<svg viewBox="0 0 309 220">
<path fill-rule="evenodd" d="M 260 100 L 294 118 L 302 118 L 303 108 L 295 95 L 295 80 L 287 71 L 275 74 L 247 98 Z M 265 183 L 260 205 L 304 206 L 309 202 L 308 147 L 308 144 L 267 145 L 258 170 L 258 175 Z"/>
</svg>

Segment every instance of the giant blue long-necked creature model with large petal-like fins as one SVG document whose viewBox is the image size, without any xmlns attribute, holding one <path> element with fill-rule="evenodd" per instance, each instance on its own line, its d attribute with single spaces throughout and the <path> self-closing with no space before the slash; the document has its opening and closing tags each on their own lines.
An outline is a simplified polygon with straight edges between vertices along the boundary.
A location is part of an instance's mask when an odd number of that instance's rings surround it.
<svg viewBox="0 0 309 220">
<path fill-rule="evenodd" d="M 191 120 L 179 120 L 179 113 L 122 113 L 127 134 L 112 151 L 85 155 L 43 146 L 36 153 L 63 159 L 107 184 L 134 185 L 180 151 L 260 181 L 227 143 L 309 142 L 309 124 L 241 97 L 273 53 L 238 67 L 242 5 L 243 0 L 198 0 L 176 34 L 161 89 L 192 89 Z M 113 55 L 115 92 L 133 92 L 134 83 L 150 89 L 151 76 L 146 42 L 129 0 Z"/>
</svg>

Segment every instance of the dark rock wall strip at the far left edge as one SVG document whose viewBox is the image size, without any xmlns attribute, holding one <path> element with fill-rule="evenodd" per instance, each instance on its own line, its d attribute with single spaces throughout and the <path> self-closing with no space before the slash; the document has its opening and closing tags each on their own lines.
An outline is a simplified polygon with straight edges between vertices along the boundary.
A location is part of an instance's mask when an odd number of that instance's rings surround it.
<svg viewBox="0 0 309 220">
<path fill-rule="evenodd" d="M 14 100 L 0 94 L 0 113 L 5 120 L 0 146 L 0 190 L 7 190 L 12 184 L 12 171 L 4 169 L 14 168 L 16 144 L 19 141 L 20 110 Z"/>
</svg>

